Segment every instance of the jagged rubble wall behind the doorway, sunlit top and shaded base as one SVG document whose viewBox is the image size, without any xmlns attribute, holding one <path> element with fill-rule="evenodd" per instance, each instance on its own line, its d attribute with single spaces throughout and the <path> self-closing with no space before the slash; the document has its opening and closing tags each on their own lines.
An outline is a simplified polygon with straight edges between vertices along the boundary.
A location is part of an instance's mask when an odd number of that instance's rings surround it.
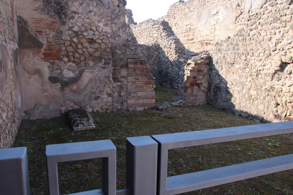
<svg viewBox="0 0 293 195">
<path fill-rule="evenodd" d="M 151 67 L 157 67 L 155 70 L 152 68 L 156 83 L 179 89 L 179 85 L 184 80 L 184 65 L 187 56 L 184 46 L 168 23 L 149 19 L 139 24 L 131 23 L 130 27 L 138 44 L 157 44 L 160 46 L 158 65 L 155 66 L 150 63 Z"/>
</svg>

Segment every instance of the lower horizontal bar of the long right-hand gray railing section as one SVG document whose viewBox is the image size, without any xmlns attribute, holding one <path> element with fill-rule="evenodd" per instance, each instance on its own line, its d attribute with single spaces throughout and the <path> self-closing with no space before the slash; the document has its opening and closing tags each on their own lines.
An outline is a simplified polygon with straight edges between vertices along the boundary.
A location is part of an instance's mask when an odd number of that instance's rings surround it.
<svg viewBox="0 0 293 195">
<path fill-rule="evenodd" d="M 293 154 L 167 177 L 167 191 L 180 194 L 289 169 Z"/>
</svg>

